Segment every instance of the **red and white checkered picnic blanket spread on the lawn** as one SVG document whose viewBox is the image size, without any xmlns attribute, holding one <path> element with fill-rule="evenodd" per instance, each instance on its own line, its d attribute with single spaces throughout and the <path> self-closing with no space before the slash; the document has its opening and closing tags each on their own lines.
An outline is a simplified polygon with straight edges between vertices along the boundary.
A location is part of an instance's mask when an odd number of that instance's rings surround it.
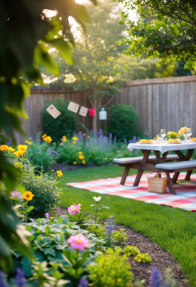
<svg viewBox="0 0 196 287">
<path fill-rule="evenodd" d="M 133 186 L 136 174 L 126 178 L 125 185 L 120 184 L 121 177 L 97 179 L 86 182 L 72 182 L 66 185 L 87 189 L 89 191 L 118 195 L 134 200 L 155 203 L 159 205 L 169 205 L 186 210 L 196 211 L 196 174 L 191 175 L 191 181 L 175 184 L 176 195 L 169 193 L 154 193 L 148 191 L 147 175 L 154 177 L 156 172 L 143 173 L 139 186 Z M 172 174 L 170 174 L 172 177 Z M 185 179 L 186 172 L 180 172 L 178 181 Z"/>
</svg>

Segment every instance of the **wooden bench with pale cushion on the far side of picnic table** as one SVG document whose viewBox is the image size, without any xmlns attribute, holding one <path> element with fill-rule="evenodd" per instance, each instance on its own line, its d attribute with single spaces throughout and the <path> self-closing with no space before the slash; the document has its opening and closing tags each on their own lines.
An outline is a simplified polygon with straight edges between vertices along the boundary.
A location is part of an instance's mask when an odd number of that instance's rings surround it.
<svg viewBox="0 0 196 287">
<path fill-rule="evenodd" d="M 133 157 L 128 157 L 128 158 L 114 158 L 113 159 L 113 162 L 117 163 L 118 166 L 125 167 L 120 184 L 125 183 L 125 180 L 126 180 L 126 177 L 128 175 L 130 168 L 136 168 L 135 164 L 140 163 L 142 159 L 143 159 L 143 156 L 133 156 Z M 180 157 L 177 154 L 167 154 L 166 157 L 164 158 L 165 161 L 173 161 L 173 160 L 179 160 L 179 159 Z M 147 163 L 149 162 L 153 163 L 155 161 L 156 161 L 156 156 L 153 155 L 153 156 L 148 157 Z"/>
</svg>

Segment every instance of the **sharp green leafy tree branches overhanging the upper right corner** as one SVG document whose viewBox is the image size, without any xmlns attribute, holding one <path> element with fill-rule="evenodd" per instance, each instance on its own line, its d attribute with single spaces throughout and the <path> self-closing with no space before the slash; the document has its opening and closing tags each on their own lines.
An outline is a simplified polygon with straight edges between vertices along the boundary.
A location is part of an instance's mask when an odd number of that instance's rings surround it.
<svg viewBox="0 0 196 287">
<path fill-rule="evenodd" d="M 119 0 L 122 2 L 122 0 Z M 126 25 L 127 53 L 148 58 L 185 62 L 186 69 L 196 71 L 196 2 L 192 0 L 128 0 L 121 24 Z M 128 11 L 136 10 L 135 21 Z"/>
</svg>

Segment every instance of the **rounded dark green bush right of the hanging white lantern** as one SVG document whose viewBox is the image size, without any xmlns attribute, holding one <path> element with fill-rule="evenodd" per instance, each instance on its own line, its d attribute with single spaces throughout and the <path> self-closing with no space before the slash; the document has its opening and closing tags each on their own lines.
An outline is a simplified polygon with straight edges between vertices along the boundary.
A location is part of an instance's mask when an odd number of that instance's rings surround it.
<svg viewBox="0 0 196 287">
<path fill-rule="evenodd" d="M 108 134 L 112 133 L 117 140 L 132 139 L 133 136 L 142 136 L 139 129 L 139 114 L 131 105 L 114 105 L 107 108 Z"/>
</svg>

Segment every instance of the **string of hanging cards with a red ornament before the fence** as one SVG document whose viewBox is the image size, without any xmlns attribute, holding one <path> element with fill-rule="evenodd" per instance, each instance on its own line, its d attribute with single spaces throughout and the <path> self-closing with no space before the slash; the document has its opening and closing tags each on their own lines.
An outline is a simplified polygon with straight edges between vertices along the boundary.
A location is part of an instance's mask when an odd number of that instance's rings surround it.
<svg viewBox="0 0 196 287">
<path fill-rule="evenodd" d="M 79 104 L 70 101 L 67 109 L 73 113 L 77 113 L 79 106 L 80 106 Z M 46 110 L 54 119 L 56 119 L 61 114 L 61 112 L 53 104 L 51 104 Z M 86 117 L 88 110 L 89 110 L 89 116 L 94 117 L 95 110 L 93 108 L 86 108 L 84 106 L 80 106 L 79 115 Z"/>
</svg>

